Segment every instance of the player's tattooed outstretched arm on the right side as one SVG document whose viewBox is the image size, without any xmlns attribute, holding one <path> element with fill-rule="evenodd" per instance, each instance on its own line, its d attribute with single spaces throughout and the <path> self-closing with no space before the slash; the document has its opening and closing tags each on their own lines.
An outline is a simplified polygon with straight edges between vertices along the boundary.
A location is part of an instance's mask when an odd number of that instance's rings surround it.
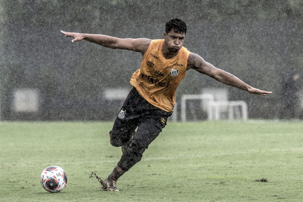
<svg viewBox="0 0 303 202">
<path fill-rule="evenodd" d="M 187 62 L 187 69 L 195 69 L 196 71 L 206 74 L 221 83 L 226 85 L 231 85 L 236 88 L 246 90 L 248 93 L 266 95 L 271 94 L 272 92 L 259 90 L 251 87 L 250 85 L 244 83 L 239 78 L 235 77 L 231 73 L 225 72 L 222 69 L 216 68 L 214 65 L 205 62 L 202 57 L 195 53 L 190 53 Z"/>
</svg>

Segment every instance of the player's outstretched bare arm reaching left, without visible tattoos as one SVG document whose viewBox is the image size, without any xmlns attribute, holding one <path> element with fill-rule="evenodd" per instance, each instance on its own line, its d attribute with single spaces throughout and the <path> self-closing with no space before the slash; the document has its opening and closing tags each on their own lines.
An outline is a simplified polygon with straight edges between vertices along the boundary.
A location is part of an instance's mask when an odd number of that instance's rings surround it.
<svg viewBox="0 0 303 202">
<path fill-rule="evenodd" d="M 124 49 L 124 50 L 132 50 L 136 52 L 140 52 L 144 54 L 148 49 L 149 44 L 151 43 L 151 39 L 147 38 L 117 38 L 111 37 L 102 34 L 82 34 L 75 32 L 64 32 L 61 31 L 66 37 L 74 37 L 71 42 L 79 42 L 82 40 L 87 40 L 89 42 L 93 42 L 99 44 L 100 46 L 113 48 L 113 49 Z"/>
</svg>

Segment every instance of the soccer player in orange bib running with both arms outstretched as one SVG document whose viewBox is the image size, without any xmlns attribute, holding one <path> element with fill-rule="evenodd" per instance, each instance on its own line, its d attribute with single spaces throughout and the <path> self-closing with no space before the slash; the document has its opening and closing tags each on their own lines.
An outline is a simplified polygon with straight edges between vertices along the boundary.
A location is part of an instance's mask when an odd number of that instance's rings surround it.
<svg viewBox="0 0 303 202">
<path fill-rule="evenodd" d="M 116 181 L 139 162 L 148 145 L 155 140 L 172 115 L 176 102 L 175 92 L 189 69 L 206 74 L 226 85 L 248 93 L 266 95 L 272 92 L 259 90 L 234 75 L 214 67 L 202 57 L 183 47 L 186 34 L 184 21 L 175 18 L 165 24 L 164 39 L 116 38 L 100 34 L 80 34 L 61 31 L 71 42 L 87 40 L 112 49 L 140 52 L 143 55 L 140 69 L 133 73 L 133 85 L 110 131 L 111 145 L 122 147 L 122 156 L 105 180 L 109 191 L 118 191 Z"/>
</svg>

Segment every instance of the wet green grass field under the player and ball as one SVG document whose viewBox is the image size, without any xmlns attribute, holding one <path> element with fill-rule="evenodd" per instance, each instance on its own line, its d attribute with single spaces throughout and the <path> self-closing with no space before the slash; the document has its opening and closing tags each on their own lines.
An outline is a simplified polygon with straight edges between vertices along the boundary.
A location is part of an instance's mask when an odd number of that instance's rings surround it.
<svg viewBox="0 0 303 202">
<path fill-rule="evenodd" d="M 0 201 L 303 201 L 303 122 L 168 123 L 141 162 L 104 192 L 121 156 L 111 122 L 1 122 Z M 67 187 L 46 192 L 44 168 L 58 165 Z M 256 180 L 267 179 L 267 182 Z"/>
</svg>

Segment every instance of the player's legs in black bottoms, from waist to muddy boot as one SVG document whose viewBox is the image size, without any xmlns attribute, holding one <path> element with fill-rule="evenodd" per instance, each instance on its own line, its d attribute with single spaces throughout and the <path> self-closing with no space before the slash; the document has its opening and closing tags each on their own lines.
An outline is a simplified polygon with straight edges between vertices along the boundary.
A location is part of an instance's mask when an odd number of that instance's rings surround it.
<svg viewBox="0 0 303 202">
<path fill-rule="evenodd" d="M 135 89 L 132 89 L 131 92 L 138 99 L 134 99 L 133 102 L 129 103 L 127 103 L 127 100 L 124 102 L 125 105 L 123 104 L 120 111 L 121 114 L 116 118 L 111 132 L 111 144 L 116 147 L 125 145 L 131 138 L 129 134 L 134 132 L 139 126 L 132 144 L 123 152 L 120 161 L 107 178 L 107 181 L 110 181 L 108 186 L 113 187 L 113 191 L 116 189 L 115 182 L 141 160 L 143 152 L 158 137 L 165 127 L 168 117 L 172 115 L 170 112 L 165 112 L 149 104 Z M 129 105 L 132 108 L 127 110 L 126 108 Z"/>
</svg>

